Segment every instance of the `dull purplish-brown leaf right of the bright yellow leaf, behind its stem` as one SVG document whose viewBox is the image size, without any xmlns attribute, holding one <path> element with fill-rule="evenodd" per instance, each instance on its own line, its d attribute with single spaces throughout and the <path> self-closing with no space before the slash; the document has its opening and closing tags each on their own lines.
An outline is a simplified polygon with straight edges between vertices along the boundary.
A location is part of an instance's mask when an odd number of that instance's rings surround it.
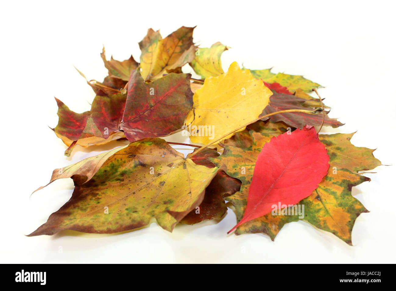
<svg viewBox="0 0 396 291">
<path fill-rule="evenodd" d="M 287 109 L 314 110 L 314 108 L 304 106 L 306 101 L 306 99 L 294 95 L 275 93 L 270 97 L 270 106 L 264 109 L 263 115 Z M 324 126 L 339 127 L 343 125 L 337 119 L 329 118 L 327 113 L 325 112 Z M 296 128 L 303 128 L 305 124 L 320 126 L 322 124 L 322 114 L 310 115 L 302 112 L 286 112 L 273 115 L 270 118 L 270 122 L 279 121 L 283 121 L 289 126 Z"/>
</svg>

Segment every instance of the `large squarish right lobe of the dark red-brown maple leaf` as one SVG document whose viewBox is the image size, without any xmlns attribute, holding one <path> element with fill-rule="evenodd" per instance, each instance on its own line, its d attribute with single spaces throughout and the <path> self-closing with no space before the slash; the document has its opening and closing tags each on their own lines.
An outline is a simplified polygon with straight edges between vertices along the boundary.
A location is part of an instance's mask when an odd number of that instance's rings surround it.
<svg viewBox="0 0 396 291">
<path fill-rule="evenodd" d="M 191 74 L 170 73 L 146 83 L 139 70 L 131 72 L 120 129 L 126 138 L 163 137 L 179 130 L 192 107 Z"/>
</svg>

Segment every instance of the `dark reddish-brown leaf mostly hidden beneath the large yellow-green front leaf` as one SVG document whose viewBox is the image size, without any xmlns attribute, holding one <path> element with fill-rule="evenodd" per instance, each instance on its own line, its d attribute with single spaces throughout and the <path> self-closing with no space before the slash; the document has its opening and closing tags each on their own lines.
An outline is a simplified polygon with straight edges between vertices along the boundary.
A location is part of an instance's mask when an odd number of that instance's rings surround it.
<svg viewBox="0 0 396 291">
<path fill-rule="evenodd" d="M 191 154 L 187 155 L 187 158 Z M 193 156 L 191 160 L 197 165 L 204 165 L 208 168 L 215 165 L 208 158 L 216 158 L 219 153 L 215 149 L 205 148 Z M 241 182 L 238 179 L 228 176 L 225 171 L 219 169 L 213 180 L 205 190 L 205 198 L 202 203 L 188 213 L 180 222 L 184 224 L 195 224 L 205 220 L 221 219 L 227 212 L 224 198 L 239 191 Z"/>
</svg>

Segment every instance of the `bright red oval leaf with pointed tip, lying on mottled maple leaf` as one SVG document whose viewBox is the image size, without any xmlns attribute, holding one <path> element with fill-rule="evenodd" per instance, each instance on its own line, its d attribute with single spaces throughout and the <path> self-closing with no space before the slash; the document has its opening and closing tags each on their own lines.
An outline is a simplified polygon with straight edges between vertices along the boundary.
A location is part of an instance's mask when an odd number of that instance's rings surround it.
<svg viewBox="0 0 396 291">
<path fill-rule="evenodd" d="M 312 126 L 273 137 L 261 150 L 240 224 L 270 213 L 272 205 L 293 205 L 312 194 L 326 176 L 329 156 Z"/>
</svg>

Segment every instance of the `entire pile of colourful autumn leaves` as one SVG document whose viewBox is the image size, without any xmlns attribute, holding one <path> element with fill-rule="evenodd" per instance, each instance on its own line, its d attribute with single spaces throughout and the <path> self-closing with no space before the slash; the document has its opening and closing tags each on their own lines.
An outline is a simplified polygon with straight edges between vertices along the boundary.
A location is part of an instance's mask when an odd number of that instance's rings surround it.
<svg viewBox="0 0 396 291">
<path fill-rule="evenodd" d="M 360 171 L 381 165 L 373 150 L 353 146 L 353 133 L 318 135 L 313 126 L 321 126 L 322 112 L 266 116 L 321 108 L 307 94 L 319 84 L 237 63 L 224 72 L 220 57 L 227 46 L 198 48 L 193 30 L 181 27 L 162 38 L 149 29 L 139 42 L 140 63 L 132 56 L 108 61 L 103 49 L 109 75 L 87 80 L 96 93 L 91 110 L 76 113 L 56 99 L 53 131 L 68 146 L 65 155 L 76 145 L 130 143 L 55 169 L 50 183 L 71 177 L 72 198 L 30 236 L 66 229 L 114 233 L 153 217 L 172 231 L 177 223 L 221 219 L 227 200 L 239 221 L 236 234 L 262 232 L 273 240 L 284 224 L 303 220 L 351 244 L 354 222 L 367 212 L 351 188 L 369 181 Z M 201 80 L 182 72 L 187 63 Z M 324 126 L 342 125 L 327 113 Z M 215 142 L 185 158 L 160 138 L 183 128 L 192 143 Z M 286 215 L 297 204 L 304 205 L 303 217 Z M 274 214 L 272 205 L 288 207 Z"/>
</svg>

